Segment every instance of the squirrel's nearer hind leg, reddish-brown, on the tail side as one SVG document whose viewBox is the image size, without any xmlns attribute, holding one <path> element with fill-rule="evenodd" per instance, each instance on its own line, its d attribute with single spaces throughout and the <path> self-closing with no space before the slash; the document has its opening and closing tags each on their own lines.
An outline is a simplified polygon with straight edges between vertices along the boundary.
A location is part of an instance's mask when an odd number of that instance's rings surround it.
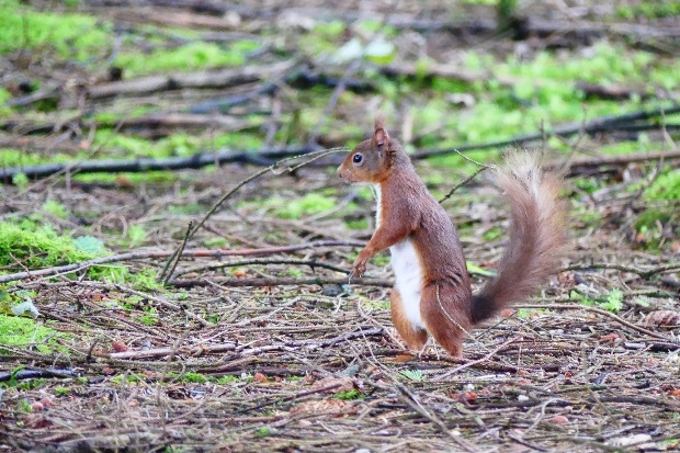
<svg viewBox="0 0 680 453">
<path fill-rule="evenodd" d="M 420 313 L 428 331 L 453 358 L 463 356 L 463 339 L 472 324 L 458 292 L 451 285 L 432 283 L 422 292 Z"/>
</svg>

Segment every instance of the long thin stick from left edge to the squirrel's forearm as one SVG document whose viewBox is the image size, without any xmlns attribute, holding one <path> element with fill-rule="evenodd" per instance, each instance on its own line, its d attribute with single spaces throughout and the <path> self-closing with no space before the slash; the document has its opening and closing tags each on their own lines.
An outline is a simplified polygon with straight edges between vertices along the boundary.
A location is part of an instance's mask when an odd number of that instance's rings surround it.
<svg viewBox="0 0 680 453">
<path fill-rule="evenodd" d="M 190 249 L 182 252 L 182 257 L 193 258 L 220 258 L 220 257 L 252 257 L 274 253 L 288 253 L 298 250 L 317 248 L 317 247 L 363 247 L 365 242 L 356 240 L 317 240 L 305 244 L 296 244 L 291 246 L 268 247 L 262 249 L 240 249 L 240 250 L 220 250 L 220 249 Z M 0 275 L 0 283 L 13 282 L 16 280 L 34 279 L 38 276 L 52 276 L 59 273 L 76 272 L 92 265 L 110 264 L 121 261 L 135 261 L 149 258 L 168 258 L 174 251 L 136 251 L 129 253 L 115 254 L 113 257 L 102 257 L 92 260 L 81 261 L 73 264 L 56 265 L 53 268 L 38 269 L 35 271 L 18 272 L 13 274 Z"/>
</svg>

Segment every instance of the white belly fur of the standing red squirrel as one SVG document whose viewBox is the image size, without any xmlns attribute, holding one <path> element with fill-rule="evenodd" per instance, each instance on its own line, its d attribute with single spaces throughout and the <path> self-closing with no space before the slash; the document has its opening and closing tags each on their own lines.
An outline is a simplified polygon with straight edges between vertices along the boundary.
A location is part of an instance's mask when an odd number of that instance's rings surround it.
<svg viewBox="0 0 680 453">
<path fill-rule="evenodd" d="M 404 239 L 389 248 L 392 268 L 395 271 L 396 287 L 401 296 L 404 314 L 413 327 L 424 329 L 420 316 L 420 296 L 422 296 L 422 264 L 410 239 Z"/>
</svg>

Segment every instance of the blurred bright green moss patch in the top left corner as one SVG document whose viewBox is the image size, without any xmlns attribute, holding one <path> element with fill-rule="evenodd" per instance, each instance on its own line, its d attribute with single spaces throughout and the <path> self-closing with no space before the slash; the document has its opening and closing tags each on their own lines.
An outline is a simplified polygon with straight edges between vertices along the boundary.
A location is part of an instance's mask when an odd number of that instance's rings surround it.
<svg viewBox="0 0 680 453">
<path fill-rule="evenodd" d="M 88 15 L 37 12 L 19 1 L 2 0 L 0 16 L 0 54 L 42 47 L 84 61 L 111 47 L 112 25 Z"/>
</svg>

